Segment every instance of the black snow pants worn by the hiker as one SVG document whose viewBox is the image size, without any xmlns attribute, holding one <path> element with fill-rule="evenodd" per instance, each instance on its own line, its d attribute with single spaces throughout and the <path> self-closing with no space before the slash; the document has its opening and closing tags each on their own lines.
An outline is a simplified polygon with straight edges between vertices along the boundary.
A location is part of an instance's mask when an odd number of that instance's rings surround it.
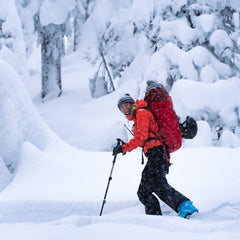
<svg viewBox="0 0 240 240">
<path fill-rule="evenodd" d="M 178 212 L 179 205 L 189 200 L 180 192 L 171 187 L 166 179 L 169 164 L 167 164 L 163 146 L 149 149 L 146 154 L 148 161 L 143 169 L 142 178 L 138 189 L 138 198 L 145 206 L 146 214 L 162 215 L 158 199 L 165 202 L 175 212 Z"/>
</svg>

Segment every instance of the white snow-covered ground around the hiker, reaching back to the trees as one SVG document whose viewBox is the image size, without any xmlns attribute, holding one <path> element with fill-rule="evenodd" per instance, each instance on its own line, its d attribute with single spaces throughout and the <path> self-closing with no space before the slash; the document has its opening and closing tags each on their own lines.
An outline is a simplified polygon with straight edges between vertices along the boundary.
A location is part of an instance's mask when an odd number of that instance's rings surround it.
<svg viewBox="0 0 240 240">
<path fill-rule="evenodd" d="M 80 59 L 77 54 L 64 59 L 63 95 L 44 104 L 36 88 L 40 75 L 31 76 L 34 105 L 59 138 L 48 133 L 42 149 L 31 139 L 23 144 L 15 177 L 0 193 L 1 240 L 239 239 L 240 148 L 201 141 L 208 137 L 201 122 L 198 143 L 185 142 L 172 155 L 168 175 L 198 215 L 182 219 L 163 203 L 163 216 L 145 215 L 136 195 L 144 167 L 136 150 L 118 155 L 99 216 L 112 167 L 111 142 L 126 137 L 116 102 L 127 88 L 92 100 L 89 67 Z"/>
</svg>

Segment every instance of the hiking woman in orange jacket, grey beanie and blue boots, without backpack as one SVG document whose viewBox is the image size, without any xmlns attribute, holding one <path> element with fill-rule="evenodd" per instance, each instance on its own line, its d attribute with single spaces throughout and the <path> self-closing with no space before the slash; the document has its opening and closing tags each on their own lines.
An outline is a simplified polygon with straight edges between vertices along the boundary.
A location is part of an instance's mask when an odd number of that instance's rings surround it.
<svg viewBox="0 0 240 240">
<path fill-rule="evenodd" d="M 153 86 L 154 87 L 154 86 Z M 149 91 L 151 86 L 148 86 Z M 156 137 L 159 129 L 153 114 L 147 110 L 147 102 L 136 100 L 125 94 L 118 101 L 118 108 L 129 121 L 134 121 L 133 138 L 113 149 L 113 155 L 130 152 L 142 147 L 147 163 L 142 171 L 141 182 L 137 191 L 140 202 L 145 206 L 146 214 L 162 215 L 157 195 L 171 207 L 180 217 L 189 217 L 197 212 L 197 208 L 183 194 L 168 184 L 166 174 L 169 170 L 169 153 L 160 137 Z M 155 195 L 154 195 L 155 194 Z"/>
</svg>

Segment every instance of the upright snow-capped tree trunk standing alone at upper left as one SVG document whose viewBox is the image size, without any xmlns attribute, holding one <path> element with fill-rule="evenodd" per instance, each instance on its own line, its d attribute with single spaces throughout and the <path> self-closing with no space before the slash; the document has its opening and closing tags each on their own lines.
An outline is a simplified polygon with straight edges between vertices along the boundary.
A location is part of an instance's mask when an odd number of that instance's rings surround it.
<svg viewBox="0 0 240 240">
<path fill-rule="evenodd" d="M 42 99 L 58 97 L 62 93 L 61 57 L 64 54 L 64 35 L 74 0 L 45 0 L 34 16 L 35 29 L 42 53 Z M 53 14 L 55 13 L 55 14 Z"/>
</svg>

